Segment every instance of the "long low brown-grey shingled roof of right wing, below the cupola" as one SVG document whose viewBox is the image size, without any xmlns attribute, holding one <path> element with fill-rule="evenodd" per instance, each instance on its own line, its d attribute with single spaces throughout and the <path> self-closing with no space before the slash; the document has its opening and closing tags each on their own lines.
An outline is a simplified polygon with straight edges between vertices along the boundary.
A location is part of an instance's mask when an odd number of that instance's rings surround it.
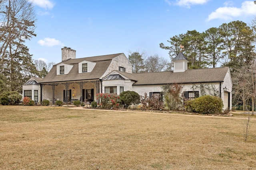
<svg viewBox="0 0 256 170">
<path fill-rule="evenodd" d="M 119 72 L 136 82 L 133 85 L 150 84 L 174 84 L 174 83 L 202 83 L 202 82 L 223 82 L 228 71 L 228 67 L 192 69 L 185 72 L 146 72 L 146 73 L 126 73 Z"/>
</svg>

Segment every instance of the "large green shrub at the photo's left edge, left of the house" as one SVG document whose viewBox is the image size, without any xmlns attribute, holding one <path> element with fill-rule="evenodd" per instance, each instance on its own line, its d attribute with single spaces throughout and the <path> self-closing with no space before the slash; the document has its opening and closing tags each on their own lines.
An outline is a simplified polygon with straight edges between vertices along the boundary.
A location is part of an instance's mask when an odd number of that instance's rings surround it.
<svg viewBox="0 0 256 170">
<path fill-rule="evenodd" d="M 3 92 L 0 97 L 0 101 L 2 105 L 18 105 L 20 104 L 20 101 L 22 100 L 22 95 L 20 95 L 18 92 Z"/>
</svg>

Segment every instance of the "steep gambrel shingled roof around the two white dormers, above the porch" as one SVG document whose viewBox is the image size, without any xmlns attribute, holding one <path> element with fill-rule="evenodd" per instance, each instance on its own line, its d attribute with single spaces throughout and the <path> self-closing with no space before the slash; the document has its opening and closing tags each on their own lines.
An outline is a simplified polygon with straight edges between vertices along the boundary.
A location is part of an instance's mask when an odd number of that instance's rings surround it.
<svg viewBox="0 0 256 170">
<path fill-rule="evenodd" d="M 122 53 L 112 54 L 112 55 L 102 55 L 95 57 L 85 57 L 80 59 L 69 59 L 61 63 L 72 64 L 73 68 L 68 74 L 57 75 L 57 64 L 55 64 L 50 72 L 44 77 L 43 80 L 40 80 L 40 83 L 53 83 L 53 82 L 66 82 L 66 81 L 79 81 L 79 80 L 93 80 L 99 79 L 108 69 L 112 59 L 121 55 Z M 91 61 L 96 62 L 92 72 L 78 73 L 78 63 L 81 61 Z"/>
</svg>

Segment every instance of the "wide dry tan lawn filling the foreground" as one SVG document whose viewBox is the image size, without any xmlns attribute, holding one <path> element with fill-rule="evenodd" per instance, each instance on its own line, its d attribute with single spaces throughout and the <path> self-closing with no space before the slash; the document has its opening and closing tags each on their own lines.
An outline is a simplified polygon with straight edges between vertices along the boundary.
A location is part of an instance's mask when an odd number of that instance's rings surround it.
<svg viewBox="0 0 256 170">
<path fill-rule="evenodd" d="M 244 119 L 0 106 L 0 168 L 254 170 Z"/>
</svg>

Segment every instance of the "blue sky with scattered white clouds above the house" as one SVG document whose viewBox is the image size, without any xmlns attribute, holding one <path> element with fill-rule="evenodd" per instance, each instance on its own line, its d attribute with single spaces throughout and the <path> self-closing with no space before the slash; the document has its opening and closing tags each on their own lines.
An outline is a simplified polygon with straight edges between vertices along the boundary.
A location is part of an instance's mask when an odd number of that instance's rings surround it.
<svg viewBox="0 0 256 170">
<path fill-rule="evenodd" d="M 145 51 L 170 61 L 174 35 L 200 33 L 222 23 L 250 23 L 254 1 L 244 0 L 30 0 L 36 12 L 36 37 L 26 41 L 33 59 L 61 62 L 61 48 L 76 50 L 76 58 Z"/>
</svg>

